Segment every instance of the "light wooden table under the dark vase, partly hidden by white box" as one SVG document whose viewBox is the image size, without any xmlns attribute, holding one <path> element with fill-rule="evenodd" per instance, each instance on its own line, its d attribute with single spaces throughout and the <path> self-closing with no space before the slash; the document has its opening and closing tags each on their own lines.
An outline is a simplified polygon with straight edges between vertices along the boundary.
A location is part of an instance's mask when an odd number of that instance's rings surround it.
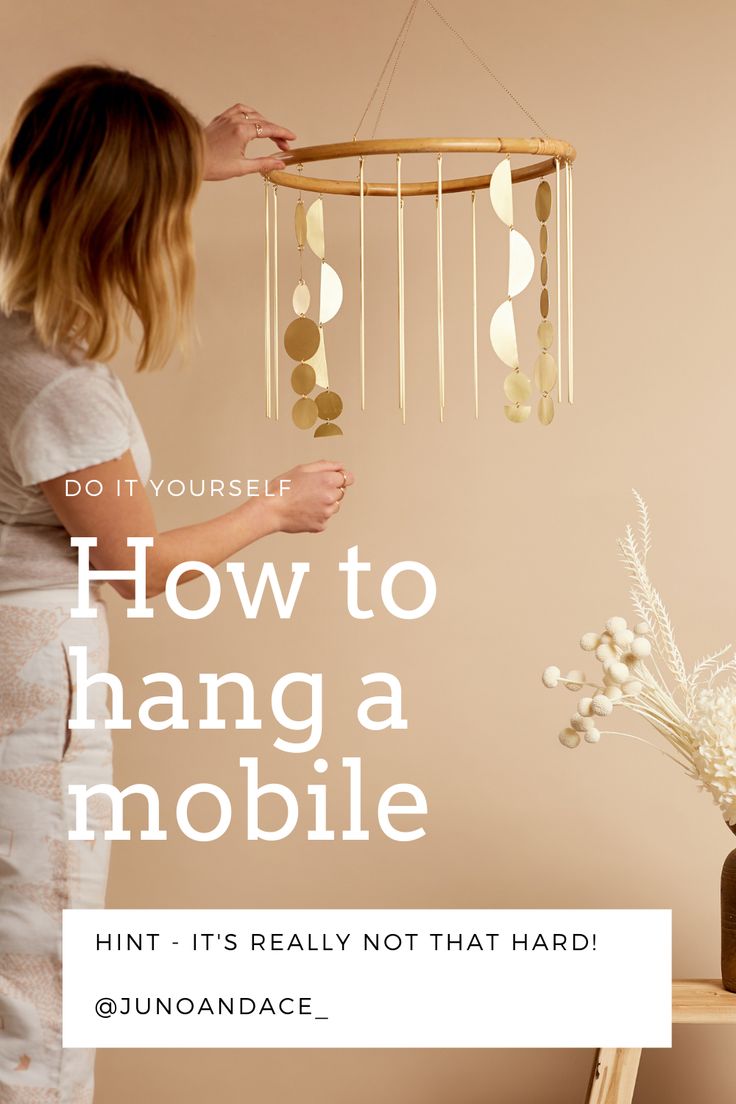
<svg viewBox="0 0 736 1104">
<path fill-rule="evenodd" d="M 673 981 L 672 1022 L 736 1023 L 736 994 L 726 992 L 721 981 Z M 586 1104 L 631 1104 L 640 1058 L 641 1050 L 633 1048 L 597 1050 Z"/>
</svg>

